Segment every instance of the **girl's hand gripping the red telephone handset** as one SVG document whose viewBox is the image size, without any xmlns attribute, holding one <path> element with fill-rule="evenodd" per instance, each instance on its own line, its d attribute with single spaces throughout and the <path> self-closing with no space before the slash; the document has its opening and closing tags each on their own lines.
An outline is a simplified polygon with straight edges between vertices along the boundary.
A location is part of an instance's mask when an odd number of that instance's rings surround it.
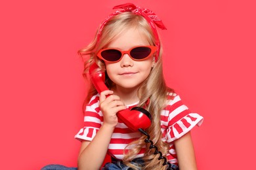
<svg viewBox="0 0 256 170">
<path fill-rule="evenodd" d="M 116 127 L 118 119 L 116 113 L 126 109 L 120 97 L 113 95 L 113 91 L 106 90 L 100 93 L 100 110 L 102 111 L 104 124 Z"/>
</svg>

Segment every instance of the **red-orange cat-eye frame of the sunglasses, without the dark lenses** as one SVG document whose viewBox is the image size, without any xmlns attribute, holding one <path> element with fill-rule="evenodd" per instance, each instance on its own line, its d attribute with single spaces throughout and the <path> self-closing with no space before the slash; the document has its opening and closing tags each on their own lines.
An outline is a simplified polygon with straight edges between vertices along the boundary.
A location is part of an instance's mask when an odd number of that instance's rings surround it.
<svg viewBox="0 0 256 170">
<path fill-rule="evenodd" d="M 150 54 L 148 54 L 148 56 L 146 58 L 142 58 L 142 59 L 136 59 L 136 58 L 133 58 L 130 54 L 131 50 L 135 49 L 135 48 L 138 48 L 138 47 L 148 47 L 150 48 L 151 52 Z M 135 60 L 135 61 L 142 61 L 142 60 L 145 60 L 147 58 L 149 58 L 150 56 L 152 56 L 152 54 L 154 54 L 157 50 L 157 46 L 134 46 L 133 48 L 130 48 L 129 50 L 125 50 L 125 51 L 122 51 L 118 48 L 102 48 L 101 50 L 98 51 L 98 58 L 102 59 L 103 61 L 106 61 L 108 63 L 117 63 L 118 61 L 120 61 L 122 58 L 123 58 L 123 55 L 124 54 L 128 54 L 130 56 L 131 59 Z M 101 56 L 101 52 L 103 52 L 104 50 L 117 50 L 119 52 L 121 52 L 121 58 L 119 58 L 117 61 L 108 61 L 107 59 L 104 59 L 102 56 Z"/>
</svg>

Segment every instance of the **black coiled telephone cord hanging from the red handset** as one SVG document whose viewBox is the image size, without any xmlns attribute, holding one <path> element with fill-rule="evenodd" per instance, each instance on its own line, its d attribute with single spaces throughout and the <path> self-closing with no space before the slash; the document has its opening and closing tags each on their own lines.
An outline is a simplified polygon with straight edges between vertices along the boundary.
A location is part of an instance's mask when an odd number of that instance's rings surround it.
<svg viewBox="0 0 256 170">
<path fill-rule="evenodd" d="M 160 154 L 158 160 L 162 160 L 162 159 L 164 160 L 164 161 L 163 161 L 163 166 L 164 166 L 164 165 L 168 165 L 167 170 L 174 170 L 174 169 L 171 167 L 171 163 L 169 163 L 169 162 L 167 161 L 167 159 L 163 156 L 163 154 L 162 154 L 160 151 L 158 151 L 158 147 L 155 146 L 155 145 L 153 144 L 153 142 L 150 140 L 150 135 L 148 135 L 148 133 L 146 133 L 146 131 L 144 131 L 144 130 L 141 129 L 141 128 L 139 128 L 139 131 L 140 131 L 142 134 L 144 134 L 144 135 L 147 136 L 147 138 L 144 140 L 144 142 L 145 142 L 145 143 L 150 143 L 150 147 L 149 147 L 149 148 L 150 148 L 150 149 L 155 148 L 154 154 L 155 154 L 155 155 L 156 155 L 156 154 Z"/>
</svg>

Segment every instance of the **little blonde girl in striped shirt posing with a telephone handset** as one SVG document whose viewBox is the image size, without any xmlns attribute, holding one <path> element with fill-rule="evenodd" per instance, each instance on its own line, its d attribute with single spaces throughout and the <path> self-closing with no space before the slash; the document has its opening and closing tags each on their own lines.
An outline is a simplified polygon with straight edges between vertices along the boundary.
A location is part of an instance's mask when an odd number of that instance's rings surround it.
<svg viewBox="0 0 256 170">
<path fill-rule="evenodd" d="M 96 71 L 105 73 L 109 90 L 97 92 L 90 86 L 84 127 L 75 135 L 81 140 L 78 169 L 100 169 L 106 154 L 112 162 L 102 169 L 197 169 L 190 129 L 200 126 L 203 117 L 190 112 L 165 84 L 156 30 L 165 26 L 154 12 L 131 3 L 114 9 L 118 10 L 102 22 L 95 39 L 79 51 L 89 56 L 84 74 L 96 64 Z M 117 117 L 117 112 L 135 106 L 152 117 L 145 130 L 153 148 L 144 142 L 146 135 Z M 162 159 L 154 153 L 155 146 Z"/>
</svg>

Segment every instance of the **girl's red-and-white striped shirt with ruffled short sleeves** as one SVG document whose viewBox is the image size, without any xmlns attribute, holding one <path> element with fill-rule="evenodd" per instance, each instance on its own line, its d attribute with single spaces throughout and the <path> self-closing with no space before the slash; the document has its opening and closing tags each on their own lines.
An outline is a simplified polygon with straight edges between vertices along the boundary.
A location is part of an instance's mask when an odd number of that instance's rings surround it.
<svg viewBox="0 0 256 170">
<path fill-rule="evenodd" d="M 173 141 L 182 137 L 190 131 L 194 126 L 200 126 L 203 122 L 203 117 L 200 114 L 192 113 L 188 107 L 184 105 L 181 98 L 177 94 L 169 94 L 169 99 L 165 109 L 161 111 L 161 132 L 163 134 L 162 141 L 169 144 L 169 153 L 167 160 L 170 163 L 177 164 L 177 155 Z M 94 95 L 85 109 L 84 127 L 75 135 L 76 139 L 92 141 L 98 129 L 103 124 L 103 115 L 99 108 L 99 94 Z M 129 105 L 129 109 L 135 107 Z M 139 131 L 131 131 L 125 124 L 118 122 L 112 139 L 108 145 L 108 154 L 118 160 L 123 159 L 123 152 L 127 144 L 139 139 L 142 134 Z M 142 147 L 139 154 L 135 158 L 144 156 L 145 146 Z"/>
</svg>

